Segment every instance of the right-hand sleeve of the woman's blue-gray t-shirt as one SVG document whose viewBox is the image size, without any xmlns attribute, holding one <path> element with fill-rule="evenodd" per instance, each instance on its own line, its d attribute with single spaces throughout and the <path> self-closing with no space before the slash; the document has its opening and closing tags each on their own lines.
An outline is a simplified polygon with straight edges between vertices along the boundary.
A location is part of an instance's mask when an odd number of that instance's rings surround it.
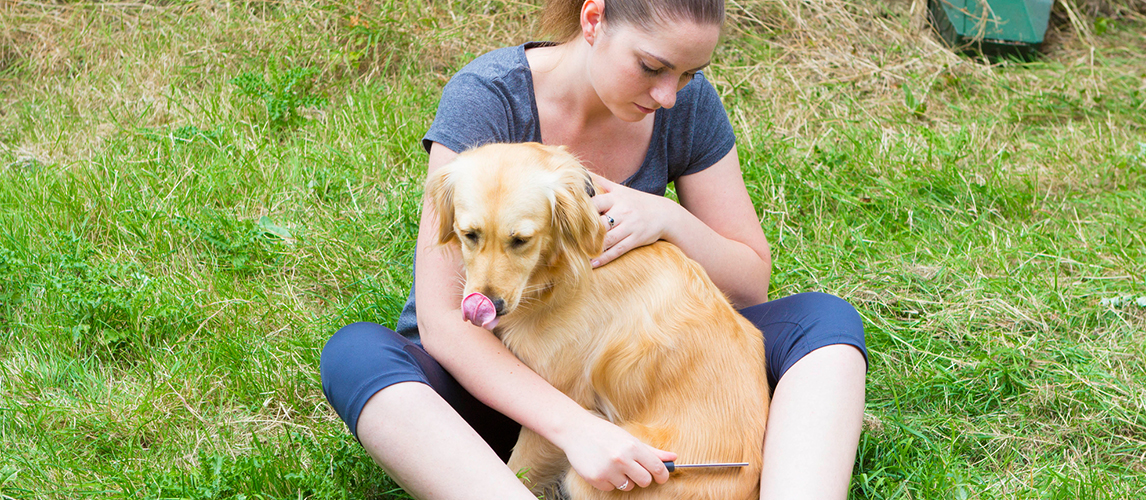
<svg viewBox="0 0 1146 500">
<path fill-rule="evenodd" d="M 736 133 L 732 132 L 732 124 L 728 119 L 720 95 L 716 94 L 716 88 L 699 75 L 692 83 L 697 84 L 697 88 L 690 120 L 692 134 L 689 138 L 689 166 L 681 172 L 681 175 L 713 166 L 728 156 L 736 146 Z"/>
</svg>

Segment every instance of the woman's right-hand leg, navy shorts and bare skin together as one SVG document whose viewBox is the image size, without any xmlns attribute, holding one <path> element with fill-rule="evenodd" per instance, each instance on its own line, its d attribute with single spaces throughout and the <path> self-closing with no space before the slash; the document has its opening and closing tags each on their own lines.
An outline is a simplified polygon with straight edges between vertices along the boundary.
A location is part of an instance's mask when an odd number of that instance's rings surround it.
<svg viewBox="0 0 1146 500">
<path fill-rule="evenodd" d="M 774 388 L 761 498 L 847 498 L 868 370 L 859 314 L 826 294 L 798 294 L 740 312 L 764 333 Z"/>
</svg>

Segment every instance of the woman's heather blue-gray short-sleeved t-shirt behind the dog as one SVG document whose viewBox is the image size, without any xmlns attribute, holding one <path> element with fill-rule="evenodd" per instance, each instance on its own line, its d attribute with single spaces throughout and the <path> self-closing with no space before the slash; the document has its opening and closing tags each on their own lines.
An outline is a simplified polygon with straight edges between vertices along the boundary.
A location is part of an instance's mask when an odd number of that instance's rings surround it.
<svg viewBox="0 0 1146 500">
<path fill-rule="evenodd" d="M 542 142 L 533 75 L 525 57 L 527 48 L 542 45 L 500 48 L 458 71 L 446 84 L 438 115 L 422 139 L 426 151 L 433 142 L 456 153 L 492 142 Z M 644 163 L 621 183 L 664 195 L 669 182 L 712 166 L 735 144 L 736 135 L 716 89 L 698 72 L 676 94 L 672 109 L 660 108 L 653 115 Z M 418 341 L 413 289 L 395 330 Z"/>
</svg>

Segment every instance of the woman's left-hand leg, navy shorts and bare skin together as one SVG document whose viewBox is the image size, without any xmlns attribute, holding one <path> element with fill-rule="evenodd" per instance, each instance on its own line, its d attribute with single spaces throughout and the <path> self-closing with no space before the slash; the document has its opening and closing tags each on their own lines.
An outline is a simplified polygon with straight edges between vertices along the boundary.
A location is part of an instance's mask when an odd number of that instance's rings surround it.
<svg viewBox="0 0 1146 500">
<path fill-rule="evenodd" d="M 504 463 L 520 427 L 469 394 L 419 345 L 354 323 L 323 347 L 320 372 L 347 428 L 415 498 L 534 499 Z"/>
</svg>

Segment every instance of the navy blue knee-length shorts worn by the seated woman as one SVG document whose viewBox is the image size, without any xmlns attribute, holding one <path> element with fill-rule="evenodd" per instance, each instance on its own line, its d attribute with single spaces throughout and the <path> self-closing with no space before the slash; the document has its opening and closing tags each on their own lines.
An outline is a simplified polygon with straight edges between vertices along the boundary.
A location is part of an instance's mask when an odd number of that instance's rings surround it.
<svg viewBox="0 0 1146 500">
<path fill-rule="evenodd" d="M 798 294 L 740 310 L 764 333 L 768 384 L 816 349 L 853 345 L 868 358 L 863 322 L 843 299 L 818 292 Z M 322 392 L 358 437 L 358 417 L 376 392 L 399 382 L 422 382 L 457 411 L 502 460 L 509 460 L 521 427 L 471 396 L 426 353 L 390 328 L 361 322 L 344 327 L 322 350 Z"/>
</svg>

